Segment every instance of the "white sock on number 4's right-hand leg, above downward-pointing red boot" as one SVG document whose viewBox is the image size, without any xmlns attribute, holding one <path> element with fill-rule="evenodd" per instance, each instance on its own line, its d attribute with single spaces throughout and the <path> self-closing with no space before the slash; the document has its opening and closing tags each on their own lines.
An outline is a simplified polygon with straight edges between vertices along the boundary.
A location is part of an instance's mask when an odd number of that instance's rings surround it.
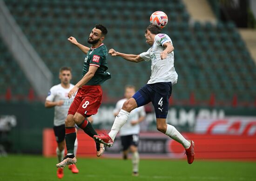
<svg viewBox="0 0 256 181">
<path fill-rule="evenodd" d="M 179 142 L 183 145 L 185 149 L 188 149 L 191 145 L 191 143 L 186 140 L 180 132 L 172 125 L 167 124 L 167 129 L 165 132 L 166 135 L 170 136 L 172 139 L 174 139 L 176 142 Z"/>
</svg>

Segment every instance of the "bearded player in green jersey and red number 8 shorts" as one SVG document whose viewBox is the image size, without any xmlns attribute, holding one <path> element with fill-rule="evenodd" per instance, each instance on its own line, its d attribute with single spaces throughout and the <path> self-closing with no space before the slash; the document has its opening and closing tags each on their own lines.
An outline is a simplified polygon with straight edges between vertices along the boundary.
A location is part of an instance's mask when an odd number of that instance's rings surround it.
<svg viewBox="0 0 256 181">
<path fill-rule="evenodd" d="M 107 47 L 102 43 L 107 33 L 108 30 L 105 26 L 95 25 L 88 38 L 88 43 L 92 45 L 91 48 L 81 45 L 74 37 L 67 39 L 87 55 L 83 64 L 83 78 L 68 92 L 69 98 L 73 97 L 76 91 L 77 94 L 68 110 L 65 122 L 67 155 L 62 162 L 56 164 L 58 168 L 76 163 L 74 155 L 75 124 L 83 129 L 88 136 L 97 135 L 87 117 L 97 113 L 102 98 L 101 84 L 111 78 L 107 72 Z M 101 156 L 105 150 L 104 145 L 98 142 L 96 142 L 96 149 L 97 156 Z"/>
</svg>

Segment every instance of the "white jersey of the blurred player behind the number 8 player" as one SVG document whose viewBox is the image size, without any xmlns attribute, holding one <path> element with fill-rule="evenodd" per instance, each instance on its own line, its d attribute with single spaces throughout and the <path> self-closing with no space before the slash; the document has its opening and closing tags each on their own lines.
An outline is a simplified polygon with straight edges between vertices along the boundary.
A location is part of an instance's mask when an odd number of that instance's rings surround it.
<svg viewBox="0 0 256 181">
<path fill-rule="evenodd" d="M 74 97 L 68 98 L 67 93 L 74 87 L 73 84 L 70 84 L 68 89 L 65 89 L 61 84 L 54 85 L 46 97 L 47 101 L 56 102 L 63 100 L 64 103 L 61 106 L 54 107 L 54 126 L 60 126 L 65 124 L 65 119 L 67 118 L 67 112 L 74 100 Z"/>
</svg>

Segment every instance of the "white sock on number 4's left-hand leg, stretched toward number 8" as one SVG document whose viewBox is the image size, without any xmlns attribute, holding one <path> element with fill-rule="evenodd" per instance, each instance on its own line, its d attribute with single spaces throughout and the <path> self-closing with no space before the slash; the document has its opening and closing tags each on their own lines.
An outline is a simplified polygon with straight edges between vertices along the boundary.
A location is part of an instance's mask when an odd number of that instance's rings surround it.
<svg viewBox="0 0 256 181">
<path fill-rule="evenodd" d="M 108 136 L 110 136 L 113 141 L 115 140 L 115 136 L 118 133 L 118 131 L 127 122 L 129 114 L 130 113 L 126 110 L 120 110 L 118 115 L 115 117 L 115 121 L 111 128 L 111 131 L 108 133 Z"/>
</svg>

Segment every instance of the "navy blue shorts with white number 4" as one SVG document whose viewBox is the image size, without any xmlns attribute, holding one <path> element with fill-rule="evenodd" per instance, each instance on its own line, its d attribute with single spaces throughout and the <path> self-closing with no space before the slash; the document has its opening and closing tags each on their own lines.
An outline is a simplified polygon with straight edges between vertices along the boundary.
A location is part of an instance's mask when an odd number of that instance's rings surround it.
<svg viewBox="0 0 256 181">
<path fill-rule="evenodd" d="M 135 99 L 138 107 L 152 102 L 155 108 L 156 118 L 166 118 L 171 94 L 171 82 L 158 82 L 155 84 L 144 85 L 135 93 L 133 98 Z"/>
</svg>

